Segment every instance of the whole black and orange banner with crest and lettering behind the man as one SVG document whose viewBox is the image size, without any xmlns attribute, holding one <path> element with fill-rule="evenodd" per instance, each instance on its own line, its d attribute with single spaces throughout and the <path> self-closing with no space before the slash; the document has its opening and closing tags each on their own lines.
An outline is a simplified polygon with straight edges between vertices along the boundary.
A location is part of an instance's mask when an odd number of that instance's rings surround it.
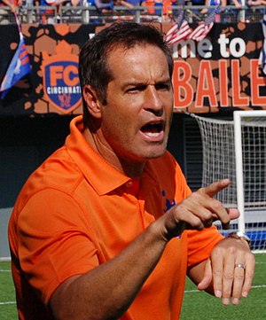
<svg viewBox="0 0 266 320">
<path fill-rule="evenodd" d="M 0 99 L 0 115 L 82 113 L 78 52 L 82 43 L 102 27 L 105 26 L 22 25 L 32 73 Z M 166 33 L 171 24 L 157 23 L 157 27 Z M 16 32 L 12 26 L 0 26 L 0 41 L 4 43 L 0 82 L 19 42 Z M 175 112 L 266 109 L 266 75 L 259 64 L 263 40 L 260 23 L 239 22 L 215 23 L 199 43 L 176 43 Z"/>
</svg>

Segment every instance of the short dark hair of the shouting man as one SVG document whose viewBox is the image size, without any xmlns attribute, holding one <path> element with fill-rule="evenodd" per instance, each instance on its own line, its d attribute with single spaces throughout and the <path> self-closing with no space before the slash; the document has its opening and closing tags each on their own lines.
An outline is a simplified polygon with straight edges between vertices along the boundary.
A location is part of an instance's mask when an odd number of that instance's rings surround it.
<svg viewBox="0 0 266 320">
<path fill-rule="evenodd" d="M 98 98 L 106 104 L 106 88 L 112 80 L 112 74 L 108 70 L 107 55 L 115 47 L 124 47 L 126 50 L 136 44 L 152 44 L 158 46 L 164 52 L 168 60 L 170 76 L 173 73 L 172 53 L 165 43 L 160 31 L 151 25 L 138 24 L 136 22 L 115 22 L 93 36 L 82 46 L 79 61 L 79 76 L 81 87 L 90 84 L 97 92 Z M 90 116 L 86 104 L 83 102 L 84 121 Z"/>
</svg>

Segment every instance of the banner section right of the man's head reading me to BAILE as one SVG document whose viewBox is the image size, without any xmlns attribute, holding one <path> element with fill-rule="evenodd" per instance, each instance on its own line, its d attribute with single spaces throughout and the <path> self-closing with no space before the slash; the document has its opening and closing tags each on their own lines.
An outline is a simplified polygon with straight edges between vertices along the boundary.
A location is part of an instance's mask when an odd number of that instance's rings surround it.
<svg viewBox="0 0 266 320">
<path fill-rule="evenodd" d="M 266 108 L 266 74 L 259 64 L 260 24 L 215 24 L 196 43 L 174 46 L 175 111 L 216 113 Z"/>
</svg>

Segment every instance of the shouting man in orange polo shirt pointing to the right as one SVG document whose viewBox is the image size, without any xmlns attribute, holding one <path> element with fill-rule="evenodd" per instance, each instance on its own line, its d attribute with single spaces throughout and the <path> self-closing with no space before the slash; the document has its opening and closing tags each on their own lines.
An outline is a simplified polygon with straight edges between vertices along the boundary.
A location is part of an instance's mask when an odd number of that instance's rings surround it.
<svg viewBox="0 0 266 320">
<path fill-rule="evenodd" d="M 30 176 L 9 225 L 20 319 L 178 319 L 186 275 L 239 304 L 244 238 L 212 225 L 228 179 L 192 193 L 166 152 L 173 59 L 160 33 L 113 24 L 80 53 L 83 117 Z"/>
</svg>

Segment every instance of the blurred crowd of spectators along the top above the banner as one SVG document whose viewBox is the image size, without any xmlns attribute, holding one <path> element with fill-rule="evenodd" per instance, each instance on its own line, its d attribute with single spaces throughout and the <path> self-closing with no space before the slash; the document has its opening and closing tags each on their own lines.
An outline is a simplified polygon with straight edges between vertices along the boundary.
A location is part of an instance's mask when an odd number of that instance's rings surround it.
<svg viewBox="0 0 266 320">
<path fill-rule="evenodd" d="M 49 7 L 56 8 L 57 12 L 65 7 L 73 9 L 88 7 L 95 8 L 99 14 L 112 14 L 115 12 L 114 9 L 118 7 L 120 10 L 124 8 L 128 14 L 134 14 L 136 8 L 142 7 L 144 8 L 142 10 L 144 14 L 157 15 L 165 17 L 167 20 L 169 18 L 173 20 L 178 14 L 178 10 L 172 10 L 172 7 L 184 5 L 186 8 L 191 8 L 187 12 L 192 13 L 193 16 L 198 15 L 199 21 L 213 10 L 210 8 L 220 5 L 220 13 L 216 15 L 216 22 L 235 22 L 235 20 L 229 20 L 230 14 L 228 10 L 225 10 L 226 6 L 233 6 L 234 10 L 231 9 L 231 12 L 237 16 L 240 12 L 243 12 L 243 8 L 250 8 L 246 10 L 246 22 L 248 22 L 252 20 L 253 12 L 257 12 L 253 8 L 258 6 L 265 6 L 266 8 L 266 0 L 0 0 L 0 24 L 7 24 L 9 22 L 8 15 L 11 13 L 21 12 L 23 8 L 28 10 L 28 8 L 40 6 L 42 7 L 40 22 L 45 24 L 49 23 L 49 14 L 51 13 L 51 16 L 53 16 L 55 13 Z M 197 6 L 201 8 L 198 9 Z M 43 7 L 48 8 L 45 10 Z M 261 13 L 263 14 L 263 12 L 265 10 L 262 8 Z M 221 16 L 223 17 L 223 15 L 226 16 L 226 19 L 221 20 Z M 241 20 L 241 18 L 237 18 L 237 20 Z"/>
</svg>

